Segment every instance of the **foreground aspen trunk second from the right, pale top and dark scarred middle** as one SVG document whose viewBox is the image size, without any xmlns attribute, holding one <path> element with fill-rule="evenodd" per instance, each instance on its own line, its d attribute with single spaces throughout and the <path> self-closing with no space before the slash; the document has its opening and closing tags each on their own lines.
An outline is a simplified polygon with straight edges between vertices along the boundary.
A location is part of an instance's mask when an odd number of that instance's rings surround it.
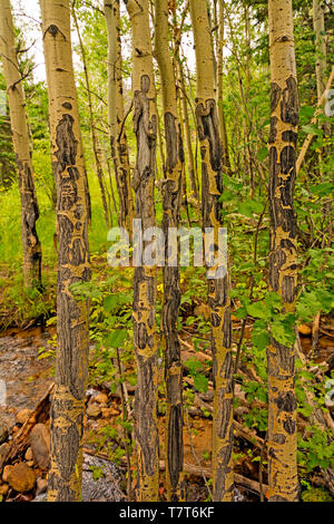
<svg viewBox="0 0 334 524">
<path fill-rule="evenodd" d="M 213 227 L 215 244 L 222 223 L 223 148 L 214 89 L 214 65 L 206 0 L 190 0 L 194 29 L 197 96 L 196 117 L 202 155 L 203 226 Z M 215 248 L 216 252 L 216 248 Z M 214 501 L 233 499 L 233 358 L 229 276 L 208 278 L 212 346 L 214 357 L 213 474 Z"/>
</svg>

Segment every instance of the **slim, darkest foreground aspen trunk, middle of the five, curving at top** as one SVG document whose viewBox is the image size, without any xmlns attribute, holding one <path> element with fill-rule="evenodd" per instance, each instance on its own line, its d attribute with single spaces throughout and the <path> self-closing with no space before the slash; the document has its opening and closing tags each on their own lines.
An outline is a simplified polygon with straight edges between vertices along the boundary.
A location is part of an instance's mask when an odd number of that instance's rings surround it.
<svg viewBox="0 0 334 524">
<path fill-rule="evenodd" d="M 184 152 L 177 115 L 174 67 L 168 46 L 168 0 L 156 1 L 155 56 L 158 61 L 166 139 L 166 172 L 163 185 L 163 229 L 165 258 L 168 258 L 168 229 L 178 227 L 181 197 Z M 180 303 L 179 268 L 164 266 L 163 329 L 165 343 L 166 400 L 166 484 L 168 501 L 184 499 L 181 493 L 183 388 L 178 308 Z"/>
</svg>

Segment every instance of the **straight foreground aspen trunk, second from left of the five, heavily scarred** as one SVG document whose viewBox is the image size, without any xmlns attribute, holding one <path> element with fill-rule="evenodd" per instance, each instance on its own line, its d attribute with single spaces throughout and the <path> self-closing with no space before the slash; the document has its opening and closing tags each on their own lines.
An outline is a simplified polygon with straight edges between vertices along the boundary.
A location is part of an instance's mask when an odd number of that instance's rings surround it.
<svg viewBox="0 0 334 524">
<path fill-rule="evenodd" d="M 137 159 L 132 174 L 136 219 L 141 233 L 156 223 L 154 206 L 157 145 L 156 90 L 153 72 L 148 0 L 126 1 L 132 33 L 134 129 Z M 144 249 L 147 242 L 144 242 Z M 137 359 L 135 436 L 138 460 L 138 499 L 157 501 L 159 441 L 157 429 L 158 353 L 156 341 L 156 269 L 135 268 L 134 342 Z"/>
</svg>

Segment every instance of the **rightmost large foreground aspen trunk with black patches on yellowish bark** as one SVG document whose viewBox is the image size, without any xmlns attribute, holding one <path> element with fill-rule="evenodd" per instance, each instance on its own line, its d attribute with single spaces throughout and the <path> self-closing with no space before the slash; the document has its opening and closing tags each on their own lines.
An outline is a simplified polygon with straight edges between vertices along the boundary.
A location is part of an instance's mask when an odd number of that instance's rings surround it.
<svg viewBox="0 0 334 524">
<path fill-rule="evenodd" d="M 294 51 L 292 0 L 269 0 L 271 133 L 269 289 L 279 293 L 284 310 L 294 312 L 296 297 L 296 177 L 298 90 Z M 269 501 L 298 497 L 295 350 L 272 338 L 268 360 L 268 473 Z"/>
</svg>

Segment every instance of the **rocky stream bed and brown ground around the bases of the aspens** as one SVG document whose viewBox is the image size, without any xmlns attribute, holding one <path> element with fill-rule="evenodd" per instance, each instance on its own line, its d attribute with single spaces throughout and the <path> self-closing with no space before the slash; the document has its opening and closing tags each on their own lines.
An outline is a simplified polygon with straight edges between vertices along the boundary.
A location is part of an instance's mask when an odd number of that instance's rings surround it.
<svg viewBox="0 0 334 524">
<path fill-rule="evenodd" d="M 234 336 L 237 338 L 239 321 L 233 321 Z M 249 339 L 252 322 L 246 327 L 245 338 Z M 7 435 L 0 435 L 0 467 L 1 448 L 12 445 L 20 439 L 22 426 L 27 417 L 33 413 L 38 401 L 45 396 L 53 380 L 55 363 L 55 327 L 35 326 L 22 328 L 9 328 L 1 333 L 0 338 L 0 366 L 2 379 L 7 384 L 7 407 L 1 408 L 0 425 L 8 428 Z M 198 351 L 186 342 L 188 330 L 180 331 L 183 361 L 191 358 L 195 353 L 204 362 L 210 360 L 209 352 Z M 312 353 L 312 326 L 299 327 L 303 352 Z M 334 319 L 322 319 L 320 326 L 318 350 L 313 356 L 314 362 L 326 362 L 333 356 Z M 91 343 L 94 353 L 95 343 Z M 243 368 L 242 368 L 243 371 Z M 248 370 L 244 370 L 248 372 Z M 253 371 L 255 373 L 255 371 Z M 256 373 L 255 373 L 256 375 Z M 191 377 L 185 370 L 185 384 L 193 386 Z M 266 406 L 259 400 L 247 401 L 245 392 L 236 385 L 236 398 L 238 407 L 235 410 L 235 474 L 236 474 L 236 499 L 255 502 L 259 499 L 259 491 L 263 491 L 266 499 L 266 460 L 265 460 L 265 431 L 256 431 L 244 424 L 243 416 L 252 409 L 264 409 Z M 127 384 L 130 400 L 134 398 L 135 387 Z M 210 488 L 210 439 L 212 439 L 212 399 L 213 386 L 208 381 L 205 394 L 195 392 L 191 405 L 185 411 L 185 472 L 187 482 L 187 499 L 208 499 Z M 160 400 L 164 400 L 160 395 Z M 132 404 L 130 401 L 130 404 Z M 46 406 L 48 411 L 49 406 Z M 85 416 L 85 468 L 86 492 L 89 499 L 126 498 L 126 466 L 124 456 L 122 427 L 121 427 L 121 400 L 119 389 L 112 391 L 107 382 L 90 385 L 87 390 L 86 416 Z M 35 421 L 38 423 L 39 419 Z M 159 413 L 160 443 L 164 443 L 164 413 Z M 43 419 L 43 426 L 48 435 L 49 418 Z M 298 416 L 298 429 L 303 431 L 306 420 Z M 42 431 L 43 433 L 43 431 Z M 4 437 L 4 438 L 3 438 Z M 24 437 L 26 438 L 26 437 Z M 49 438 L 49 437 L 48 437 Z M 37 482 L 28 492 L 19 493 L 12 485 L 12 481 L 1 482 L 0 494 L 6 501 L 32 501 L 41 499 L 46 489 L 47 469 L 41 467 L 45 455 L 48 454 L 46 438 L 41 438 L 37 445 L 41 458 L 31 456 L 31 441 L 26 438 L 23 448 L 13 463 L 24 462 L 32 468 Z M 32 441 L 32 447 L 36 444 Z M 262 457 L 262 458 L 261 458 Z M 164 447 L 160 449 L 160 468 L 164 469 Z M 261 464 L 263 464 L 261 466 Z M 263 468 L 263 487 L 259 485 L 259 468 Z M 111 469 L 110 469 L 111 468 Z M 114 468 L 114 469 L 112 469 Z M 135 460 L 131 459 L 134 473 Z M 111 470 L 111 474 L 110 474 Z M 23 476 L 26 473 L 23 472 Z M 87 476 L 88 475 L 88 476 Z M 21 479 L 22 481 L 22 479 Z M 100 481 L 104 481 L 100 482 Z M 23 482 L 23 481 L 22 481 Z M 12 484 L 12 485 L 11 485 Z M 313 476 L 313 485 L 322 489 L 323 481 L 320 475 Z M 91 487 L 92 486 L 92 487 Z M 136 481 L 132 482 L 132 488 Z M 108 489 L 107 489 L 108 488 Z M 105 491 L 104 491 L 105 489 Z M 165 497 L 164 475 L 160 484 L 161 499 Z M 36 498 L 37 497 L 37 498 Z"/>
</svg>

